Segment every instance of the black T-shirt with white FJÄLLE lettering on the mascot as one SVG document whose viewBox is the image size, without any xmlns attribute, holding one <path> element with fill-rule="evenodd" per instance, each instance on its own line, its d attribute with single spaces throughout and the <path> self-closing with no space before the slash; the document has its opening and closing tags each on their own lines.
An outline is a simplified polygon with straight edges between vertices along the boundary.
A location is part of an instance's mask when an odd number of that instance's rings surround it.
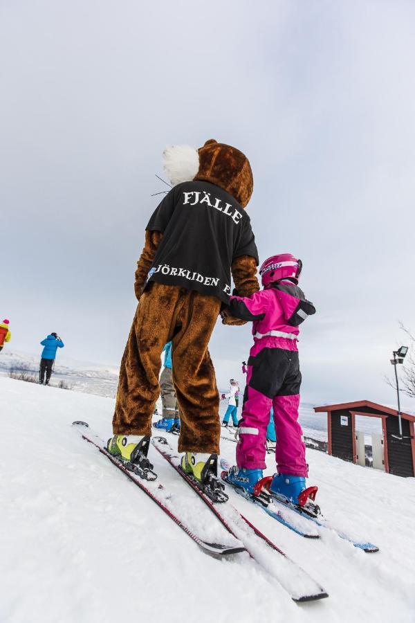
<svg viewBox="0 0 415 623">
<path fill-rule="evenodd" d="M 163 233 L 147 282 L 196 290 L 229 303 L 233 260 L 250 255 L 259 263 L 245 210 L 228 192 L 206 181 L 174 186 L 146 229 Z"/>
</svg>

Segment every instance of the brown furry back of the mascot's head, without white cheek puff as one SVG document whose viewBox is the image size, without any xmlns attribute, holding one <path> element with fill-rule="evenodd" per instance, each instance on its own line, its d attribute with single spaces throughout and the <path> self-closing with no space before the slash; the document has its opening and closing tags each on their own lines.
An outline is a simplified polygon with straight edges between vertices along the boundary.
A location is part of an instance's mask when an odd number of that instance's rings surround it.
<svg viewBox="0 0 415 623">
<path fill-rule="evenodd" d="M 199 171 L 194 179 L 220 186 L 229 192 L 242 208 L 246 208 L 254 190 L 254 178 L 245 154 L 236 147 L 218 143 L 214 138 L 210 138 L 199 149 Z"/>
</svg>

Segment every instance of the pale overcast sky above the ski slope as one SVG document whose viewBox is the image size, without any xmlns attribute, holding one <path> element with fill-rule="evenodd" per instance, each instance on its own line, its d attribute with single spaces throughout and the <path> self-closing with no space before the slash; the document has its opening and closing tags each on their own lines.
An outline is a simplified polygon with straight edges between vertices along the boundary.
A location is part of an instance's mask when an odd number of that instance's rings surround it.
<svg viewBox="0 0 415 623">
<path fill-rule="evenodd" d="M 0 1 L 7 348 L 56 331 L 119 365 L 163 148 L 216 138 L 250 159 L 261 260 L 304 262 L 304 399 L 393 403 L 398 320 L 415 329 L 414 60 L 411 0 Z M 250 343 L 218 323 L 220 386 Z"/>
</svg>

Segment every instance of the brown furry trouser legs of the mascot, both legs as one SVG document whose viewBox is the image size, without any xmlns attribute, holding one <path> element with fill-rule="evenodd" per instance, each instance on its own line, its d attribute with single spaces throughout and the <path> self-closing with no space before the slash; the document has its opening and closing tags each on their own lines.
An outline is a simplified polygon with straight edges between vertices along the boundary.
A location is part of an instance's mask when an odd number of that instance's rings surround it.
<svg viewBox="0 0 415 623">
<path fill-rule="evenodd" d="M 219 392 L 208 343 L 220 308 L 214 296 L 150 283 L 122 356 L 114 434 L 151 435 L 160 393 L 160 354 L 172 340 L 173 381 L 181 409 L 178 451 L 219 453 Z"/>
</svg>

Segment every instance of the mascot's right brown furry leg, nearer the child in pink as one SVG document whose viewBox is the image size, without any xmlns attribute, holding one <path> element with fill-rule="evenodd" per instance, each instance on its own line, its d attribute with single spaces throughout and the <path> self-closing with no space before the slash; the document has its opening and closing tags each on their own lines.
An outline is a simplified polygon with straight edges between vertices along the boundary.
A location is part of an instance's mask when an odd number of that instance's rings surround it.
<svg viewBox="0 0 415 623">
<path fill-rule="evenodd" d="M 181 408 L 179 452 L 219 454 L 219 392 L 208 344 L 221 301 L 182 290 L 172 338 L 173 380 Z"/>
</svg>

